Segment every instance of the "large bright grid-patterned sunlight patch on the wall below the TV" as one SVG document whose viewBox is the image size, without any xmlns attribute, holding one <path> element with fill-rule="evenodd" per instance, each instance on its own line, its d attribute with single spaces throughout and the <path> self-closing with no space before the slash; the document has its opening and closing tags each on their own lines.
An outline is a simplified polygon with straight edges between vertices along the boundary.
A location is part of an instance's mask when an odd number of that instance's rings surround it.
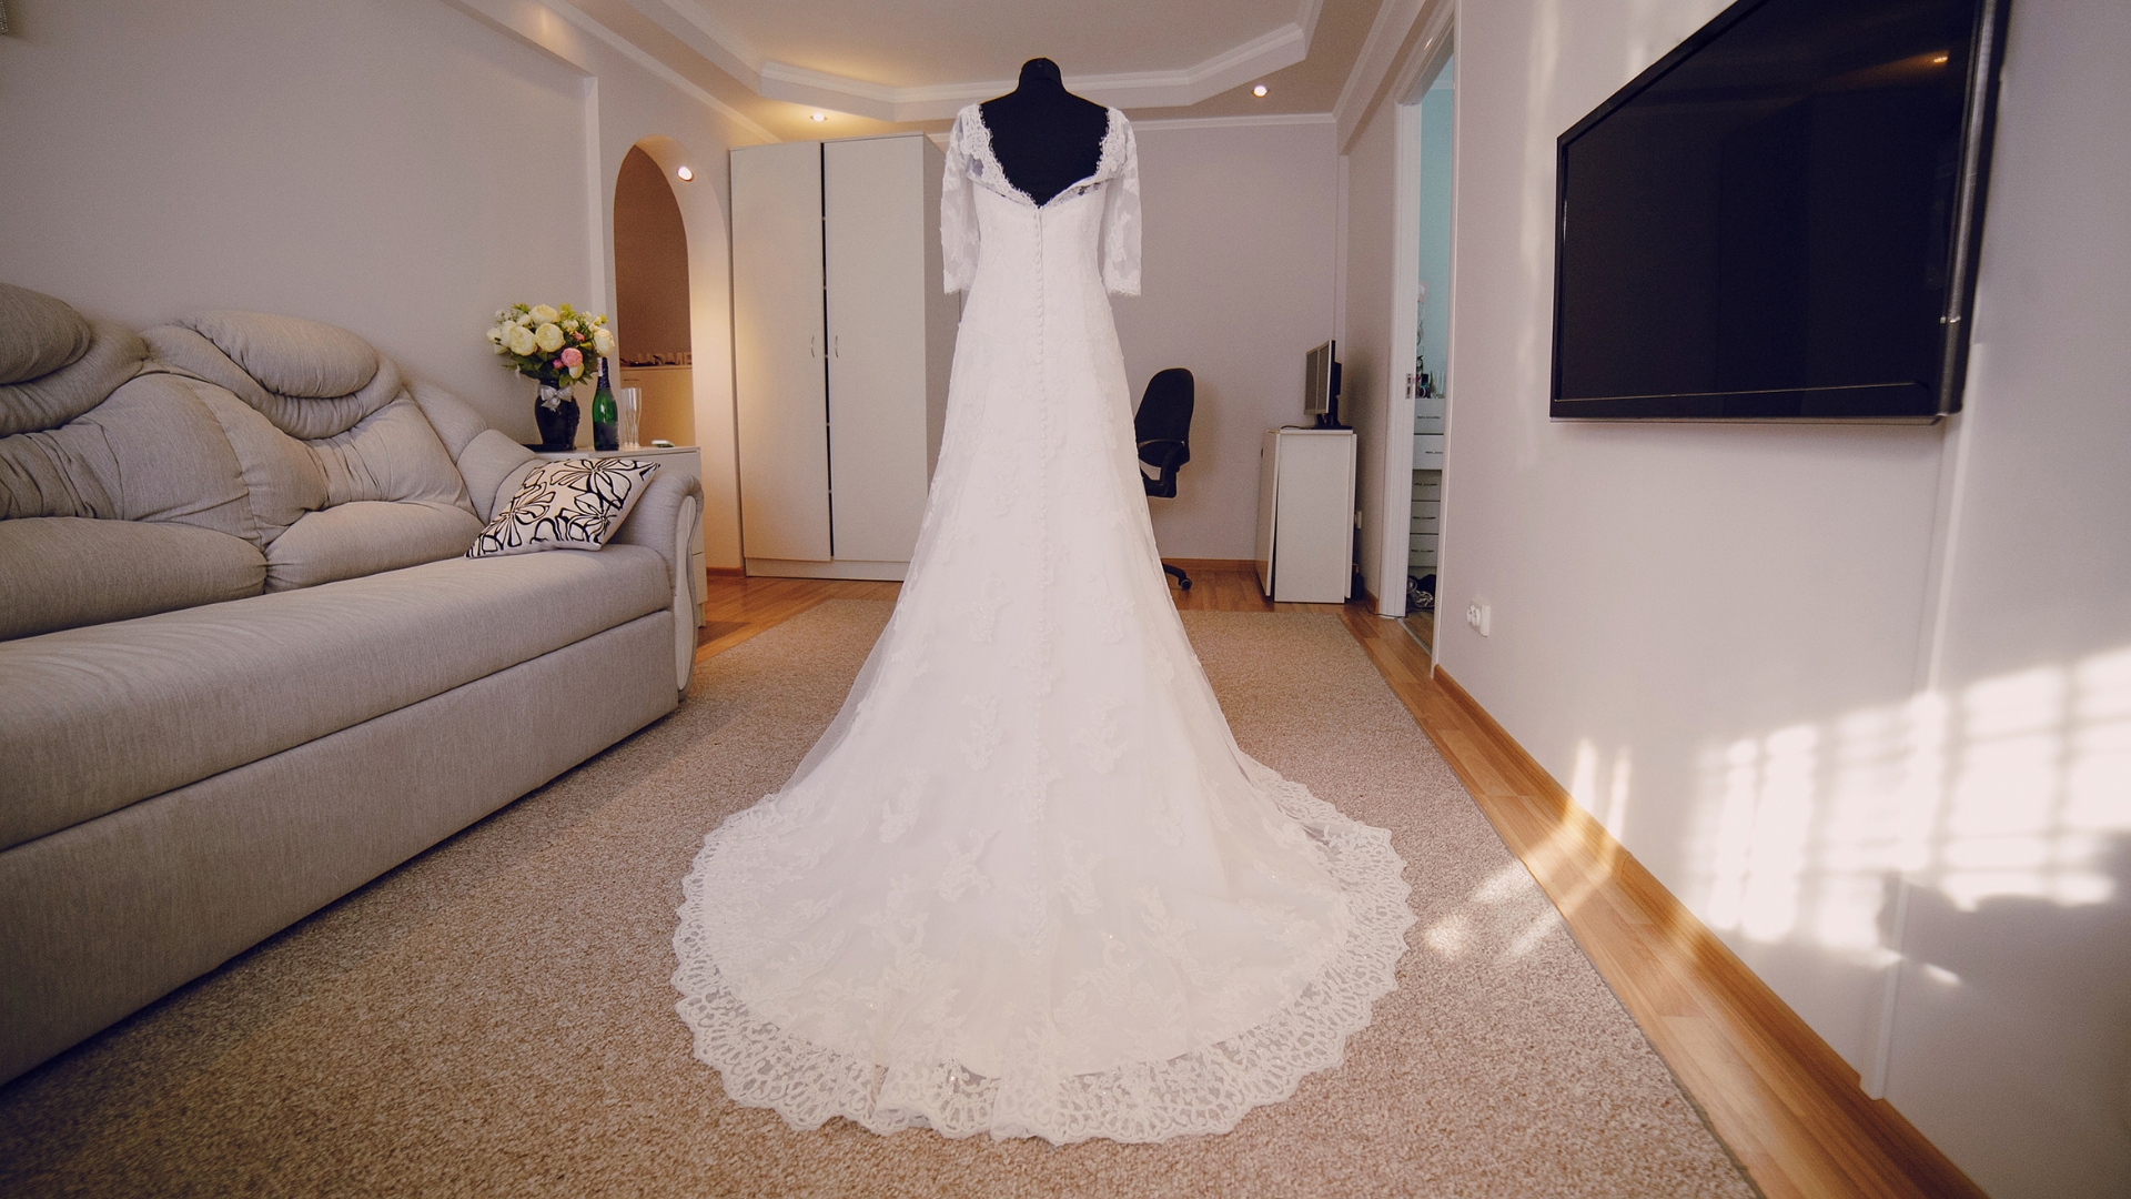
<svg viewBox="0 0 2131 1199">
<path fill-rule="evenodd" d="M 1690 907 L 1747 941 L 1888 962 L 1901 879 L 1963 911 L 2110 902 L 2112 853 L 2131 853 L 2131 649 L 1705 747 L 1698 811 Z"/>
</svg>

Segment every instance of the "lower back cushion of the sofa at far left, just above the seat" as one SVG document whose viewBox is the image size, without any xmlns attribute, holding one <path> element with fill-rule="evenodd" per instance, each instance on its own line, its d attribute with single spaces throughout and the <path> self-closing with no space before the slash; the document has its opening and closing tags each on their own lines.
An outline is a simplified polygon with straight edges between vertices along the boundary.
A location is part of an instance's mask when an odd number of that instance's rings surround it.
<svg viewBox="0 0 2131 1199">
<path fill-rule="evenodd" d="M 192 525 L 0 521 L 0 640 L 258 595 L 251 542 Z"/>
</svg>

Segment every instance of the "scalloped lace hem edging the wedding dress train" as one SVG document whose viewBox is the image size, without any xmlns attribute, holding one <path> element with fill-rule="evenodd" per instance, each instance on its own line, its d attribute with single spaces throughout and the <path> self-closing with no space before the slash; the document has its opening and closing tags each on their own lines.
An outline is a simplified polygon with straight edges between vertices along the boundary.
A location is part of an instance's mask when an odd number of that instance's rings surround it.
<svg viewBox="0 0 2131 1199">
<path fill-rule="evenodd" d="M 1274 774 L 1268 785 L 1283 813 L 1321 836 L 1353 926 L 1323 973 L 1289 1005 L 1225 1041 L 1102 1073 L 1046 1073 L 1023 1062 L 1014 1077 L 995 1080 L 957 1062 L 876 1067 L 784 1033 L 725 988 L 701 949 L 707 939 L 699 873 L 682 883 L 676 1011 L 695 1033 L 695 1056 L 718 1069 L 735 1103 L 771 1107 L 801 1131 L 842 1116 L 874 1133 L 933 1129 L 946 1137 L 991 1133 L 1053 1144 L 1227 1133 L 1253 1107 L 1291 1097 L 1304 1075 L 1345 1060 L 1347 1039 L 1368 1026 L 1374 1001 L 1398 988 L 1398 958 L 1415 922 L 1404 860 L 1389 832 L 1343 815 L 1302 783 Z"/>
</svg>

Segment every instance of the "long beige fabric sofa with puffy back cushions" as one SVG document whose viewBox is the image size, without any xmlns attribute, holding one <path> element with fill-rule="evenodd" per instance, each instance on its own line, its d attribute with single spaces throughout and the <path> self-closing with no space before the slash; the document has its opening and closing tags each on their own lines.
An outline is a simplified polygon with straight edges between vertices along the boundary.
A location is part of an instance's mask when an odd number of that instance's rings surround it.
<svg viewBox="0 0 2131 1199">
<path fill-rule="evenodd" d="M 678 704 L 699 486 L 462 557 L 531 463 L 347 331 L 0 284 L 0 1082 Z"/>
</svg>

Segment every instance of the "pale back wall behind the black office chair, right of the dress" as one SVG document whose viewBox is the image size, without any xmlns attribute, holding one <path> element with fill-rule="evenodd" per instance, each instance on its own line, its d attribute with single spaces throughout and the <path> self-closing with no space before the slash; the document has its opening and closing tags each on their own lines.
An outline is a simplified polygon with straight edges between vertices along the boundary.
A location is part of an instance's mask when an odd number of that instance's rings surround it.
<svg viewBox="0 0 2131 1199">
<path fill-rule="evenodd" d="M 1332 337 L 1332 124 L 1136 126 L 1142 294 L 1117 297 L 1132 401 L 1198 384 L 1191 463 L 1151 499 L 1164 557 L 1249 559 L 1257 442 L 1302 422 L 1302 356 Z"/>
</svg>

